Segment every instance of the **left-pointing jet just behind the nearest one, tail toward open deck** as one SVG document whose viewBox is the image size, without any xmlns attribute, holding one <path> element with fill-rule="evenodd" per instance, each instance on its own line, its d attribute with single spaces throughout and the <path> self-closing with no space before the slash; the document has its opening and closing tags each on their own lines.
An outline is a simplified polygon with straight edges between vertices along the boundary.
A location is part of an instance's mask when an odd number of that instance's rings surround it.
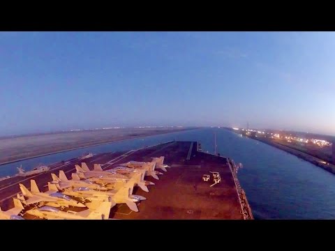
<svg viewBox="0 0 335 251">
<path fill-rule="evenodd" d="M 55 190 L 55 187 L 52 186 L 54 184 L 49 183 L 50 190 Z M 105 200 L 106 198 L 111 198 L 114 204 L 111 204 L 111 207 L 115 204 L 127 204 L 131 210 L 138 212 L 138 208 L 135 202 L 141 201 L 146 199 L 140 195 L 133 195 L 133 181 L 129 181 L 128 183 L 124 184 L 121 188 L 115 190 L 108 190 L 108 191 L 97 191 L 92 190 L 89 188 L 65 188 L 63 190 L 64 195 L 69 195 L 73 197 L 78 197 L 80 199 L 94 199 L 100 198 L 101 200 Z M 56 185 L 57 187 L 57 185 Z M 93 202 L 93 201 L 92 201 Z M 91 209 L 94 209 L 94 203 L 87 204 L 87 206 Z"/>
</svg>

